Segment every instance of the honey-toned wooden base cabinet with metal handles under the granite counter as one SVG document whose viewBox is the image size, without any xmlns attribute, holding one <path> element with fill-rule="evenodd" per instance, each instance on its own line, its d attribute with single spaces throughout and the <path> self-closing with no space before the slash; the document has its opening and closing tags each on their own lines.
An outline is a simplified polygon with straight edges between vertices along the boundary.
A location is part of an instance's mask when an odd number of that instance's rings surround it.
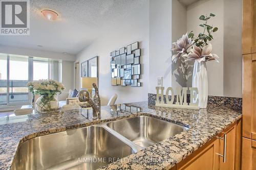
<svg viewBox="0 0 256 170">
<path fill-rule="evenodd" d="M 226 150 L 224 136 L 226 135 Z M 224 163 L 224 151 L 226 161 Z M 222 155 L 222 156 L 220 156 Z M 241 120 L 232 124 L 222 133 L 211 139 L 196 152 L 177 163 L 172 170 L 231 170 L 241 169 Z"/>
</svg>

